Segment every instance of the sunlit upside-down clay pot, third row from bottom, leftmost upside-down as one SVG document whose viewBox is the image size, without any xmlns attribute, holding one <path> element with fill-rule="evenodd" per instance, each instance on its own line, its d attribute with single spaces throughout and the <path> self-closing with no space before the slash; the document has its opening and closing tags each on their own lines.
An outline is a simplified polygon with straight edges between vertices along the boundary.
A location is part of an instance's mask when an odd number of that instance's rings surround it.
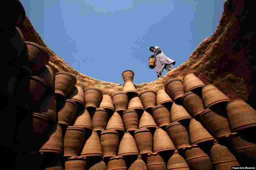
<svg viewBox="0 0 256 170">
<path fill-rule="evenodd" d="M 84 110 L 83 114 L 76 118 L 74 126 L 81 126 L 86 129 L 92 130 L 91 116 L 87 109 Z"/>
</svg>

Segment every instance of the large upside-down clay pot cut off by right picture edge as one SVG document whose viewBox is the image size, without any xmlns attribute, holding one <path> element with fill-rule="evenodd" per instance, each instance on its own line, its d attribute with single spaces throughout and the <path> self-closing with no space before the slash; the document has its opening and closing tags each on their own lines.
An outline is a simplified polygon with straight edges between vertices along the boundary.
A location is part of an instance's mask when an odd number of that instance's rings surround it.
<svg viewBox="0 0 256 170">
<path fill-rule="evenodd" d="M 232 132 L 256 126 L 256 111 L 242 99 L 228 102 L 227 115 Z"/>
</svg>

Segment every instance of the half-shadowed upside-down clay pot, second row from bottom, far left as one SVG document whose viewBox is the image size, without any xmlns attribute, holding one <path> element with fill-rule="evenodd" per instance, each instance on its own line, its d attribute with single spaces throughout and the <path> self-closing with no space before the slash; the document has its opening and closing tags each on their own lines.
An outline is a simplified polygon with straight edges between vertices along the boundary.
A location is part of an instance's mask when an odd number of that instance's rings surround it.
<svg viewBox="0 0 256 170">
<path fill-rule="evenodd" d="M 62 128 L 60 124 L 57 125 L 57 129 L 54 134 L 52 134 L 49 140 L 44 144 L 39 150 L 40 152 L 53 152 L 53 153 L 63 153 L 63 136 Z"/>
</svg>

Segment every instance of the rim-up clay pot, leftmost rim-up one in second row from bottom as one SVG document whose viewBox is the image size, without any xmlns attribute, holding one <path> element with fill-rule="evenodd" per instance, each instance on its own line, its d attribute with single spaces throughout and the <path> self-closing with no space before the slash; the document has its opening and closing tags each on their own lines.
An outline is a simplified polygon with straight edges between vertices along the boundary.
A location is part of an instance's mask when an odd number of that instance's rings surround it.
<svg viewBox="0 0 256 170">
<path fill-rule="evenodd" d="M 69 126 L 63 139 L 64 156 L 80 155 L 85 135 L 84 128 Z"/>
</svg>

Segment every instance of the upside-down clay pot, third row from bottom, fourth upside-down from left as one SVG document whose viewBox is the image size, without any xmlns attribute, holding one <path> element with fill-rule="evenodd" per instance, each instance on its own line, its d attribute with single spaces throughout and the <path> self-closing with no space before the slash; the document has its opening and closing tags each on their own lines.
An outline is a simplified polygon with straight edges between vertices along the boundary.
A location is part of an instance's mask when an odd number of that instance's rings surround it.
<svg viewBox="0 0 256 170">
<path fill-rule="evenodd" d="M 185 119 L 192 119 L 187 110 L 180 104 L 173 102 L 171 107 L 171 122 L 181 121 Z"/>
</svg>

